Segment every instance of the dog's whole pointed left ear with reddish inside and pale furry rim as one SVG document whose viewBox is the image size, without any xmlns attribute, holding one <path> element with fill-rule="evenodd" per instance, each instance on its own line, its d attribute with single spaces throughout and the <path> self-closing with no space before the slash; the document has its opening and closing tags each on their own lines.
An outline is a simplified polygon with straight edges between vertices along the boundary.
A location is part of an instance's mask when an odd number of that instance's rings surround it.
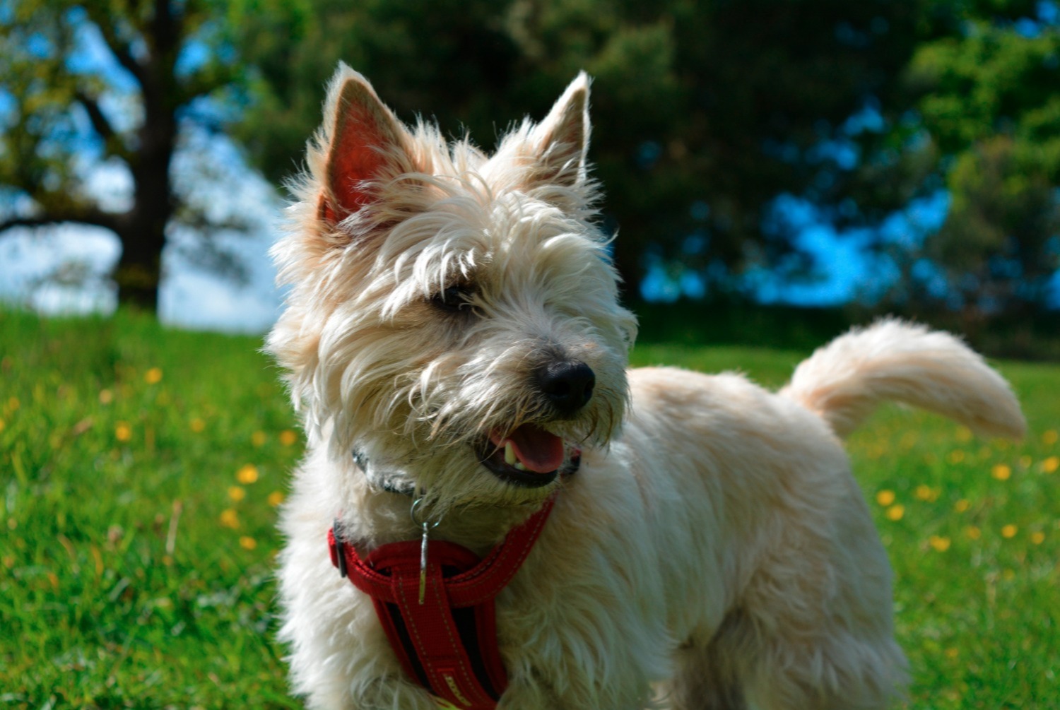
<svg viewBox="0 0 1060 710">
<path fill-rule="evenodd" d="M 328 86 L 321 143 L 326 157 L 319 214 L 333 224 L 372 201 L 373 180 L 410 163 L 405 127 L 368 79 L 342 63 Z"/>
</svg>

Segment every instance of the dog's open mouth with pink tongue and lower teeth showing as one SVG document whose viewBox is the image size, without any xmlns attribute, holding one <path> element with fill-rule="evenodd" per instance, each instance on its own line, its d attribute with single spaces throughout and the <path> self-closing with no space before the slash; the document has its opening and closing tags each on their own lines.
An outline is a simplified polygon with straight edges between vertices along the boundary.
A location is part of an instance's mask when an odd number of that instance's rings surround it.
<svg viewBox="0 0 1060 710">
<path fill-rule="evenodd" d="M 482 465 L 497 478 L 527 487 L 551 483 L 566 459 L 563 439 L 535 424 L 494 429 L 481 451 Z"/>
</svg>

